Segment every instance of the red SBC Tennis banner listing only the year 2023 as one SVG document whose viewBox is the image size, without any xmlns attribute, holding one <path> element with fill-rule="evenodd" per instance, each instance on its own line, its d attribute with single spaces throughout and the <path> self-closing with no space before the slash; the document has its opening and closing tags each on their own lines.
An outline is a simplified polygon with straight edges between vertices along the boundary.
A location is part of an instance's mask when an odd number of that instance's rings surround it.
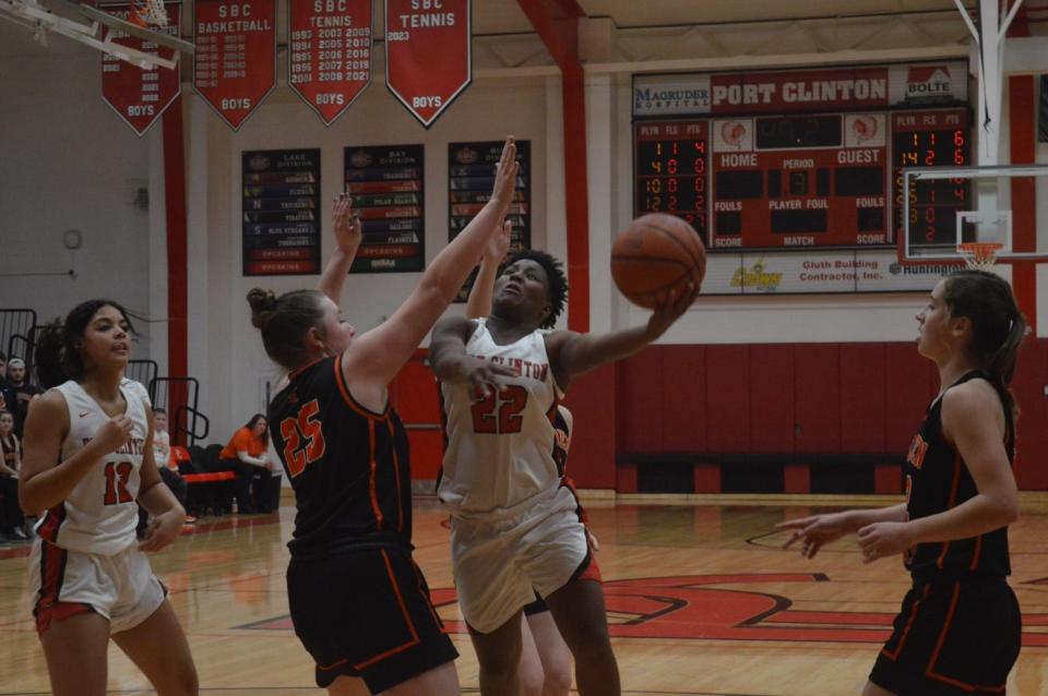
<svg viewBox="0 0 1048 696">
<path fill-rule="evenodd" d="M 385 0 L 385 86 L 429 128 L 473 80 L 469 0 Z"/>
</svg>

